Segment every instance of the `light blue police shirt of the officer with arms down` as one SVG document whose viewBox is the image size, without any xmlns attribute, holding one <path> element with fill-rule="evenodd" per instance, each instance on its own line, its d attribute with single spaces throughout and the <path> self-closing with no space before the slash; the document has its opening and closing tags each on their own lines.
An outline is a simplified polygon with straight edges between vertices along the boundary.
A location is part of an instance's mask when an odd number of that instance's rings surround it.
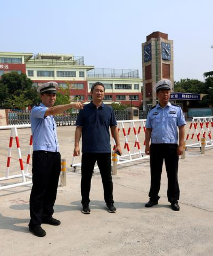
<svg viewBox="0 0 213 256">
<path fill-rule="evenodd" d="M 156 105 L 147 115 L 146 128 L 152 128 L 151 143 L 178 143 L 178 126 L 186 125 L 181 108 L 170 102 Z"/>
</svg>

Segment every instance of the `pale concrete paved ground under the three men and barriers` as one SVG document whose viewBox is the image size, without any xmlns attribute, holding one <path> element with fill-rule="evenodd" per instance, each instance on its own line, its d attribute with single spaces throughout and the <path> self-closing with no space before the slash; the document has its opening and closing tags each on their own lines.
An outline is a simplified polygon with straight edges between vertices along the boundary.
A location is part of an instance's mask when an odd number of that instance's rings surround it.
<svg viewBox="0 0 213 256">
<path fill-rule="evenodd" d="M 150 184 L 149 160 L 118 166 L 113 176 L 118 212 L 105 209 L 98 172 L 92 178 L 90 215 L 81 213 L 80 170 L 71 172 L 74 127 L 58 128 L 60 151 L 67 159 L 67 186 L 58 188 L 55 217 L 58 227 L 43 224 L 47 235 L 28 231 L 31 186 L 0 191 L 0 256 L 212 256 L 213 255 L 213 149 L 201 155 L 189 150 L 179 162 L 180 212 L 170 209 L 167 178 L 162 174 L 161 199 L 145 208 Z M 0 131 L 0 176 L 5 175 L 9 131 Z M 30 129 L 18 130 L 23 160 L 28 153 Z M 121 139 L 123 141 L 123 139 Z M 133 137 L 129 137 L 134 141 Z M 143 140 L 143 138 L 141 138 Z M 11 174 L 18 159 L 12 150 Z M 77 160 L 79 162 L 80 160 Z M 8 182 L 8 181 L 7 181 Z"/>
</svg>

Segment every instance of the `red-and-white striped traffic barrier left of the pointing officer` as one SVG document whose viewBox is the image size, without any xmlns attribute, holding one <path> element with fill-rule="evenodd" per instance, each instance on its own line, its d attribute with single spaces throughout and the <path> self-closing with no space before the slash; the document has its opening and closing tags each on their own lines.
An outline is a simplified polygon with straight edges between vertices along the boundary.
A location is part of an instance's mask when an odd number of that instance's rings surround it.
<svg viewBox="0 0 213 256">
<path fill-rule="evenodd" d="M 31 127 L 31 125 L 0 126 L 0 130 L 11 129 L 10 139 L 9 139 L 9 150 L 8 150 L 8 157 L 7 157 L 7 165 L 6 165 L 6 176 L 5 177 L 0 177 L 0 182 L 3 181 L 3 180 L 10 180 L 10 179 L 16 179 L 16 178 L 21 178 L 22 179 L 22 181 L 12 183 L 10 185 L 2 185 L 0 183 L 0 190 L 9 189 L 9 188 L 13 188 L 13 187 L 16 187 L 16 186 L 28 185 L 28 184 L 32 183 L 32 175 L 30 175 L 28 173 L 28 166 L 29 166 L 29 160 L 30 160 L 30 154 L 31 154 L 31 148 L 32 148 L 32 136 L 30 137 L 30 149 L 29 149 L 29 154 L 27 156 L 26 172 L 24 172 L 24 166 L 23 166 L 23 160 L 22 160 L 22 155 L 21 155 L 20 143 L 19 143 L 19 138 L 18 138 L 18 133 L 17 133 L 17 128 L 30 128 L 30 127 Z M 9 175 L 11 155 L 12 155 L 13 137 L 14 136 L 15 136 L 15 140 L 16 140 L 16 147 L 17 147 L 18 158 L 19 158 L 20 174 L 18 174 L 18 175 Z M 27 181 L 26 178 L 29 178 L 30 180 Z"/>
</svg>

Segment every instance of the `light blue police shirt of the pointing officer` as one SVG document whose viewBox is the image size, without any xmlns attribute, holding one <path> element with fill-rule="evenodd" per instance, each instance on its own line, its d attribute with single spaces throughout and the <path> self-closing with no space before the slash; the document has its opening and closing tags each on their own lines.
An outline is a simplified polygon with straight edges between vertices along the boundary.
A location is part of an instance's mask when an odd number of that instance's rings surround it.
<svg viewBox="0 0 213 256">
<path fill-rule="evenodd" d="M 53 116 L 44 116 L 48 108 L 40 103 L 30 115 L 33 150 L 59 152 L 56 124 Z"/>
</svg>

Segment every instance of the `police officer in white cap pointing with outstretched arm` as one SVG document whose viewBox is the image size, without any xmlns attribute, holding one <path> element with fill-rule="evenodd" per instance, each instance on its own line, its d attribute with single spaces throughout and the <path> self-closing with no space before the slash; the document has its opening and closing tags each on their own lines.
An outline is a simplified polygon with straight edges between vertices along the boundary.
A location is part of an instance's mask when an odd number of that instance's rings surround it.
<svg viewBox="0 0 213 256">
<path fill-rule="evenodd" d="M 60 225 L 53 218 L 53 206 L 57 195 L 60 175 L 60 153 L 56 124 L 53 115 L 70 108 L 82 109 L 83 102 L 58 105 L 56 100 L 56 82 L 48 82 L 37 88 L 41 103 L 32 108 L 30 121 L 33 138 L 32 155 L 32 191 L 30 195 L 29 231 L 35 236 L 45 236 L 42 223 Z"/>
</svg>

